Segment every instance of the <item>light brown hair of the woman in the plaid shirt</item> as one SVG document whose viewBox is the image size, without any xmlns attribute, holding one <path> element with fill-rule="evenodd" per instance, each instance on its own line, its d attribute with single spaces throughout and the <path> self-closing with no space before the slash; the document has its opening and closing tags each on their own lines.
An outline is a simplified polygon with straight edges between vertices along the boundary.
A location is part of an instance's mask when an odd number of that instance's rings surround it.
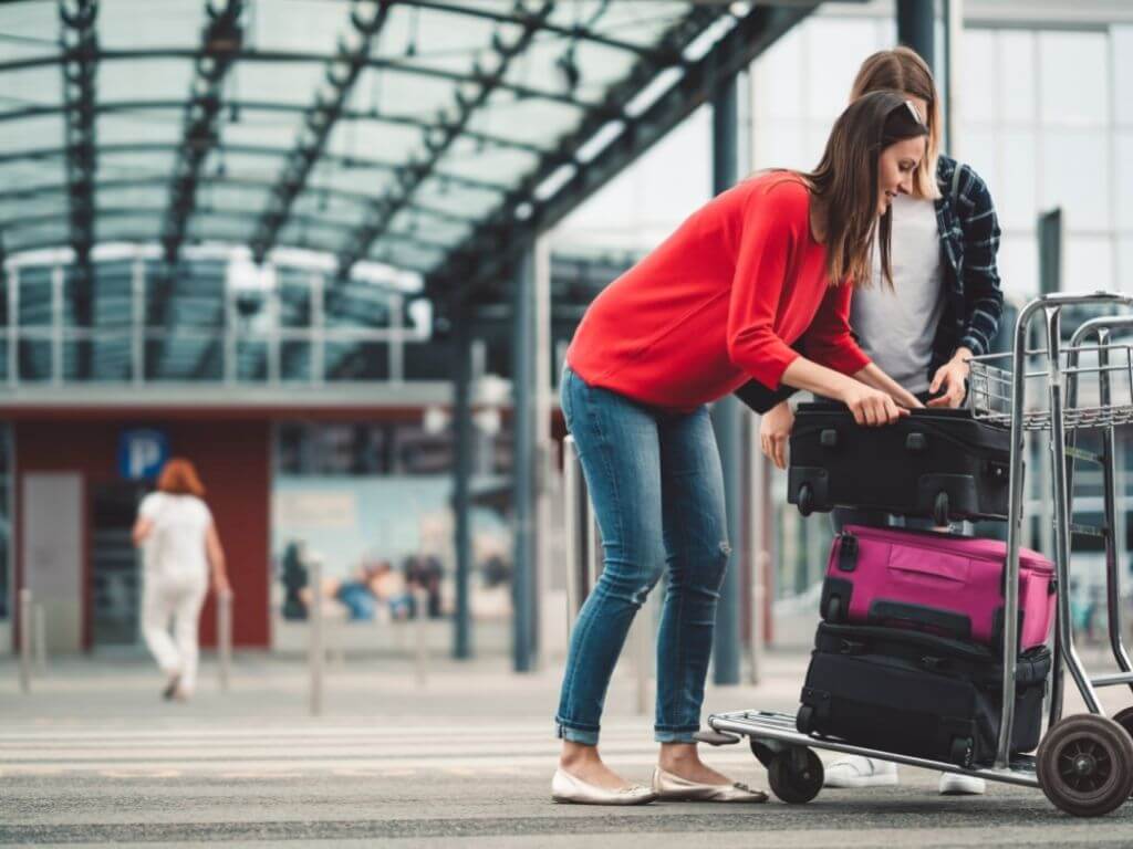
<svg viewBox="0 0 1133 849">
<path fill-rule="evenodd" d="M 920 97 L 928 104 L 923 115 L 928 127 L 928 151 L 913 174 L 913 197 L 936 200 L 940 189 L 936 185 L 936 162 L 940 156 L 940 93 L 936 89 L 932 71 L 915 50 L 901 46 L 879 50 L 861 63 L 850 89 L 855 101 L 870 92 L 893 91 Z"/>
</svg>

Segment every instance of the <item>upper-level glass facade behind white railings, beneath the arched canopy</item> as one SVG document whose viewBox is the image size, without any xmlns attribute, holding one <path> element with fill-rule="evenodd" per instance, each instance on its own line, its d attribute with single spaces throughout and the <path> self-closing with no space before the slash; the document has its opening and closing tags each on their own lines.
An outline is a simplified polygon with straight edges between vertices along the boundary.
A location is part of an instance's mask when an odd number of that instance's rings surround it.
<svg viewBox="0 0 1133 849">
<path fill-rule="evenodd" d="M 77 383 L 384 381 L 431 367 L 412 361 L 432 337 L 432 317 L 407 309 L 418 285 L 411 275 L 375 268 L 338 282 L 313 255 L 263 267 L 245 248 L 186 255 L 169 276 L 154 248 L 97 248 L 91 282 L 66 257 L 10 261 L 0 393 Z"/>
</svg>

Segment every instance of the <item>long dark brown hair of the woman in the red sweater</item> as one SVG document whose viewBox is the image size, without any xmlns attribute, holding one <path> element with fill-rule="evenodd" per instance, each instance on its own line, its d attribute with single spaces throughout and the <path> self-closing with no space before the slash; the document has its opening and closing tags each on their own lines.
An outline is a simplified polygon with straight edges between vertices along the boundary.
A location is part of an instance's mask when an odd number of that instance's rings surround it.
<svg viewBox="0 0 1133 849">
<path fill-rule="evenodd" d="M 800 173 L 824 222 L 829 284 L 869 285 L 874 240 L 880 241 L 881 275 L 889 267 L 892 211 L 878 221 L 877 169 L 881 152 L 897 142 L 927 136 L 928 129 L 901 94 L 872 92 L 838 115 L 818 166 Z"/>
</svg>

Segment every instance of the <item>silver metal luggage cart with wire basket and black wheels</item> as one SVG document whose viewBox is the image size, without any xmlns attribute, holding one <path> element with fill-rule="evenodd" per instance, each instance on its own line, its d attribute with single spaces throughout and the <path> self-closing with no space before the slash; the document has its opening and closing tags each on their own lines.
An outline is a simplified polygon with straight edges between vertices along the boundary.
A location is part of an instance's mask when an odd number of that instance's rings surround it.
<svg viewBox="0 0 1133 849">
<path fill-rule="evenodd" d="M 1062 344 L 1062 311 L 1068 306 L 1133 307 L 1133 297 L 1109 292 L 1085 295 L 1049 294 L 1029 302 L 1015 325 L 1014 350 L 1007 354 L 976 357 L 969 378 L 969 406 L 976 418 L 1011 429 L 1010 505 L 1005 586 L 1003 713 L 998 748 L 990 765 L 964 767 L 946 761 L 883 752 L 849 741 L 802 734 L 796 717 L 768 711 L 735 711 L 708 717 L 699 738 L 713 745 L 739 743 L 747 737 L 752 753 L 767 767 L 772 791 L 783 801 L 802 804 L 823 787 L 823 763 L 813 749 L 864 755 L 881 761 L 944 772 L 974 775 L 989 781 L 1040 788 L 1062 811 L 1075 816 L 1100 816 L 1119 807 L 1133 794 L 1133 707 L 1113 719 L 1105 715 L 1096 688 L 1128 685 L 1133 689 L 1133 664 L 1122 643 L 1117 564 L 1116 490 L 1114 474 L 1115 428 L 1133 423 L 1133 346 L 1116 345 L 1111 333 L 1133 329 L 1133 316 L 1115 316 L 1084 323 L 1070 344 Z M 1047 345 L 1032 351 L 1028 337 L 1032 320 L 1042 315 Z M 1091 336 L 1096 345 L 1085 345 Z M 1029 359 L 1043 362 L 1029 371 Z M 1088 362 L 1096 360 L 1094 362 Z M 1033 401 L 1028 387 L 1045 389 Z M 1081 403 L 1080 403 L 1081 397 Z M 1100 429 L 1100 453 L 1076 446 L 1080 429 Z M 1015 662 L 1019 654 L 1019 549 L 1023 523 L 1023 453 L 1028 431 L 1049 434 L 1054 500 L 1056 576 L 1059 586 L 1049 722 L 1033 755 L 1011 752 L 1015 713 Z M 1105 479 L 1102 526 L 1073 521 L 1071 489 L 1074 463 L 1100 465 Z M 1106 546 L 1109 638 L 1121 672 L 1090 678 L 1074 649 L 1071 628 L 1070 556 L 1072 537 L 1101 537 Z M 1066 666 L 1082 694 L 1089 713 L 1062 717 L 1063 675 Z M 803 723 L 806 726 L 806 723 Z"/>
</svg>

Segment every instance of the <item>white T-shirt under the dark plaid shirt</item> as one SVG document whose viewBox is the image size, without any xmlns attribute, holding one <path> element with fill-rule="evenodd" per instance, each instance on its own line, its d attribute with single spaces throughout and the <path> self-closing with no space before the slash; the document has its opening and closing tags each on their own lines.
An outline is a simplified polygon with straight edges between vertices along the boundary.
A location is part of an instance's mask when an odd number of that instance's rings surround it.
<svg viewBox="0 0 1133 849">
<path fill-rule="evenodd" d="M 881 276 L 880 251 L 874 251 L 872 285 L 850 302 L 850 326 L 877 367 L 915 394 L 929 387 L 936 328 L 944 314 L 940 237 L 931 200 L 893 198 L 891 290 Z"/>
</svg>

